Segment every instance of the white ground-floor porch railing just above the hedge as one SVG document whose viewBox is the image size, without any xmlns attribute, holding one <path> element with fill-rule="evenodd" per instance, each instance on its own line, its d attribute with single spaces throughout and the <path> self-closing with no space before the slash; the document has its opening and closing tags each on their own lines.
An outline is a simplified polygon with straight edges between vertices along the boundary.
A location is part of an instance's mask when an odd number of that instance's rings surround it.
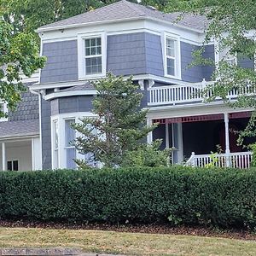
<svg viewBox="0 0 256 256">
<path fill-rule="evenodd" d="M 195 154 L 192 152 L 185 166 L 217 166 L 247 169 L 250 167 L 252 156 L 252 152 L 237 152 L 230 154 Z"/>
</svg>

